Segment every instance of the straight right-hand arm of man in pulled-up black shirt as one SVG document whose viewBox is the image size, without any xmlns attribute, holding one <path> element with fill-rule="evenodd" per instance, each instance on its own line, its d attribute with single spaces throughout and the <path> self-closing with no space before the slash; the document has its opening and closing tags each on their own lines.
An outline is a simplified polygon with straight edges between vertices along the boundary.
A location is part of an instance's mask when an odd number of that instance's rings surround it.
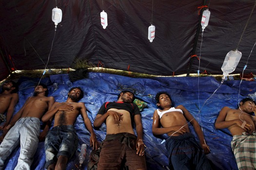
<svg viewBox="0 0 256 170">
<path fill-rule="evenodd" d="M 135 115 L 134 116 L 134 122 L 136 125 L 136 132 L 137 132 L 137 154 L 140 156 L 144 155 L 144 143 L 143 143 L 143 128 L 142 128 L 142 122 L 141 122 L 141 115 Z"/>
</svg>

